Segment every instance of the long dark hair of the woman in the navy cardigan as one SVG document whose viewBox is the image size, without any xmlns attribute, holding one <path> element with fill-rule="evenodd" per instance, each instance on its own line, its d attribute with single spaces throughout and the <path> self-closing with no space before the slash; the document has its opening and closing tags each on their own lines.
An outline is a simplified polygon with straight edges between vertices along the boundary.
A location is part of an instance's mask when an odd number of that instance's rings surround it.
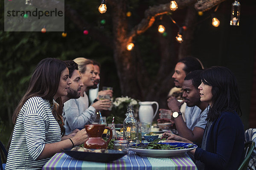
<svg viewBox="0 0 256 170">
<path fill-rule="evenodd" d="M 214 66 L 203 71 L 202 82 L 212 86 L 212 105 L 207 120 L 213 121 L 221 112 L 241 113 L 240 92 L 236 77 L 226 67 Z"/>
</svg>

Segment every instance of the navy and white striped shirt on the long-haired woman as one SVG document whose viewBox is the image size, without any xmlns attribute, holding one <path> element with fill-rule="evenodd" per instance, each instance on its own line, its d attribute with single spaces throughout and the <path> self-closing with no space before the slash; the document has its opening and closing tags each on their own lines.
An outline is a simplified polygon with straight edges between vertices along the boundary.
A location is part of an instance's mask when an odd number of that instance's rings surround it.
<svg viewBox="0 0 256 170">
<path fill-rule="evenodd" d="M 20 109 L 7 156 L 6 170 L 41 170 L 50 159 L 36 160 L 45 144 L 61 141 L 61 129 L 49 100 L 29 98 Z"/>
</svg>

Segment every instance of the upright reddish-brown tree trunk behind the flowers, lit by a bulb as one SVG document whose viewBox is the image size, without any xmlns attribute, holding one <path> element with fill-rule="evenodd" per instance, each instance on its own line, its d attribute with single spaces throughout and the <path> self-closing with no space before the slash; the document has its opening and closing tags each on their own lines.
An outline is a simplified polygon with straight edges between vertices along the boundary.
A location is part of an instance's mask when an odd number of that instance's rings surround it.
<svg viewBox="0 0 256 170">
<path fill-rule="evenodd" d="M 133 51 L 128 51 L 126 45 L 131 42 L 127 36 L 127 20 L 125 16 L 126 3 L 120 0 L 113 6 L 113 54 L 120 80 L 120 88 L 124 96 L 141 98 L 141 89 L 137 82 L 136 61 Z M 134 47 L 136 48 L 136 47 Z"/>
</svg>

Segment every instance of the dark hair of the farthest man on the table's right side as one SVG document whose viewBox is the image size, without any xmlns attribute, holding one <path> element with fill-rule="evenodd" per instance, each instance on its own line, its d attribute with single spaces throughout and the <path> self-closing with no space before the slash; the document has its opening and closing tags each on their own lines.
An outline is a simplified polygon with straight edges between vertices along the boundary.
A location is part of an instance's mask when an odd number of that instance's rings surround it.
<svg viewBox="0 0 256 170">
<path fill-rule="evenodd" d="M 182 62 L 185 64 L 183 70 L 186 74 L 189 74 L 191 71 L 195 70 L 203 70 L 203 65 L 201 61 L 195 57 L 182 58 L 178 62 Z"/>
</svg>

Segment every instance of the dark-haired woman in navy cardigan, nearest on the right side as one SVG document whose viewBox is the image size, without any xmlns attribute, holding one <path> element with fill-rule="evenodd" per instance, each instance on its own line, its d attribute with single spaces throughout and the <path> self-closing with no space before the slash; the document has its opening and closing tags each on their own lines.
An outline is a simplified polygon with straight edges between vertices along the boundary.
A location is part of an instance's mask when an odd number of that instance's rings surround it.
<svg viewBox="0 0 256 170">
<path fill-rule="evenodd" d="M 198 170 L 236 170 L 244 159 L 244 126 L 239 118 L 240 95 L 235 76 L 225 67 L 201 74 L 202 102 L 210 106 L 201 148 L 192 150 Z M 191 141 L 164 133 L 168 140 Z"/>
</svg>

